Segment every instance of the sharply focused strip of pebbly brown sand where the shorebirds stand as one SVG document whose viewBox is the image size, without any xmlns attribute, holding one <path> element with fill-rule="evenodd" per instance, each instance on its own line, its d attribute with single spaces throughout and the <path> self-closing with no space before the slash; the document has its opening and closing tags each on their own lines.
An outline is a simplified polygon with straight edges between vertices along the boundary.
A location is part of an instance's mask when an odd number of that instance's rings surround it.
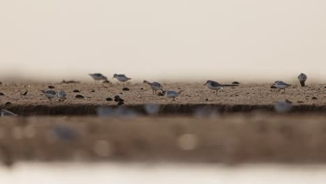
<svg viewBox="0 0 326 184">
<path fill-rule="evenodd" d="M 52 103 L 39 91 L 47 86 L 55 86 L 57 91 L 66 91 L 68 99 Z M 9 109 L 21 115 L 88 115 L 95 114 L 98 106 L 116 106 L 117 102 L 107 101 L 120 95 L 125 100 L 125 106 L 139 112 L 142 105 L 149 103 L 161 105 L 162 112 L 190 113 L 202 105 L 210 105 L 221 112 L 251 112 L 253 110 L 272 111 L 277 100 L 290 100 L 295 111 L 325 112 L 325 84 L 311 84 L 301 87 L 290 86 L 286 92 L 270 89 L 270 84 L 240 84 L 226 87 L 217 95 L 203 84 L 162 84 L 164 89 L 181 91 L 176 102 L 171 98 L 155 95 L 148 84 L 4 84 L 0 87 L 0 108 Z M 123 91 L 127 87 L 130 91 Z M 79 93 L 74 93 L 75 89 Z M 26 95 L 21 95 L 28 91 Z M 93 92 L 92 92 L 93 91 Z M 83 95 L 84 99 L 75 98 Z M 11 105 L 5 105 L 11 102 Z M 172 109 L 172 110 L 171 110 Z"/>
</svg>

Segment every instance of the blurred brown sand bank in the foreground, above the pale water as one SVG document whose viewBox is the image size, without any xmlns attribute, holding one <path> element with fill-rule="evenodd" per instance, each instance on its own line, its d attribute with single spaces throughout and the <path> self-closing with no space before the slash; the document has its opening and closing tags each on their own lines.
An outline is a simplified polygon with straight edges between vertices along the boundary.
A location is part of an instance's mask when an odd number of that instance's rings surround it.
<svg viewBox="0 0 326 184">
<path fill-rule="evenodd" d="M 0 157 L 15 161 L 325 163 L 320 114 L 0 118 Z"/>
</svg>

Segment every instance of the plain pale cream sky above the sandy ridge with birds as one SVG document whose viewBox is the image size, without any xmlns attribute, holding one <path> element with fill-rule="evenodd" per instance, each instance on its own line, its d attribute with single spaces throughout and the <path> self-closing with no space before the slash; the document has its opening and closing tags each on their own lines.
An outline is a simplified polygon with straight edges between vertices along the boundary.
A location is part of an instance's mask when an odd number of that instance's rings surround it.
<svg viewBox="0 0 326 184">
<path fill-rule="evenodd" d="M 0 79 L 326 81 L 323 0 L 2 0 Z"/>
</svg>

